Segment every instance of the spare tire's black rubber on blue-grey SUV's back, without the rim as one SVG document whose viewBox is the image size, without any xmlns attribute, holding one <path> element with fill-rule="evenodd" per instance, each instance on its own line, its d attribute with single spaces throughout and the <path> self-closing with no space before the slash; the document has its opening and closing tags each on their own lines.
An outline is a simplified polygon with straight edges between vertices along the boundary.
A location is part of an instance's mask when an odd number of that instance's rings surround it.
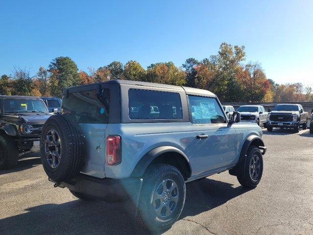
<svg viewBox="0 0 313 235">
<path fill-rule="evenodd" d="M 68 114 L 53 115 L 45 122 L 40 141 L 41 160 L 46 174 L 55 182 L 74 178 L 84 164 L 84 139 L 79 128 L 76 119 Z M 58 132 L 61 140 L 61 161 L 56 168 L 48 164 L 45 156 L 46 136 L 52 129 Z"/>
</svg>

